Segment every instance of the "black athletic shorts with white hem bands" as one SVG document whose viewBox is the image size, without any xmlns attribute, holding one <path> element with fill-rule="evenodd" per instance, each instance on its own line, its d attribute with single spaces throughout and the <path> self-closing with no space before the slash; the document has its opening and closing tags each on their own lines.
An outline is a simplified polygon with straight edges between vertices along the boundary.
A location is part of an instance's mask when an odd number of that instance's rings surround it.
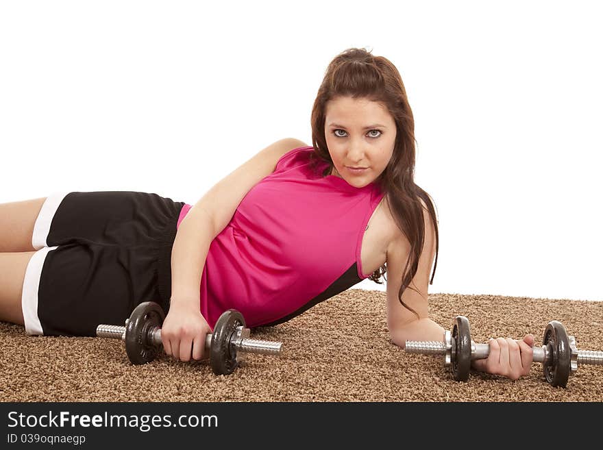
<svg viewBox="0 0 603 450">
<path fill-rule="evenodd" d="M 96 336 L 136 305 L 171 296 L 171 249 L 184 202 L 146 192 L 54 194 L 34 225 L 25 271 L 27 334 Z"/>
</svg>

